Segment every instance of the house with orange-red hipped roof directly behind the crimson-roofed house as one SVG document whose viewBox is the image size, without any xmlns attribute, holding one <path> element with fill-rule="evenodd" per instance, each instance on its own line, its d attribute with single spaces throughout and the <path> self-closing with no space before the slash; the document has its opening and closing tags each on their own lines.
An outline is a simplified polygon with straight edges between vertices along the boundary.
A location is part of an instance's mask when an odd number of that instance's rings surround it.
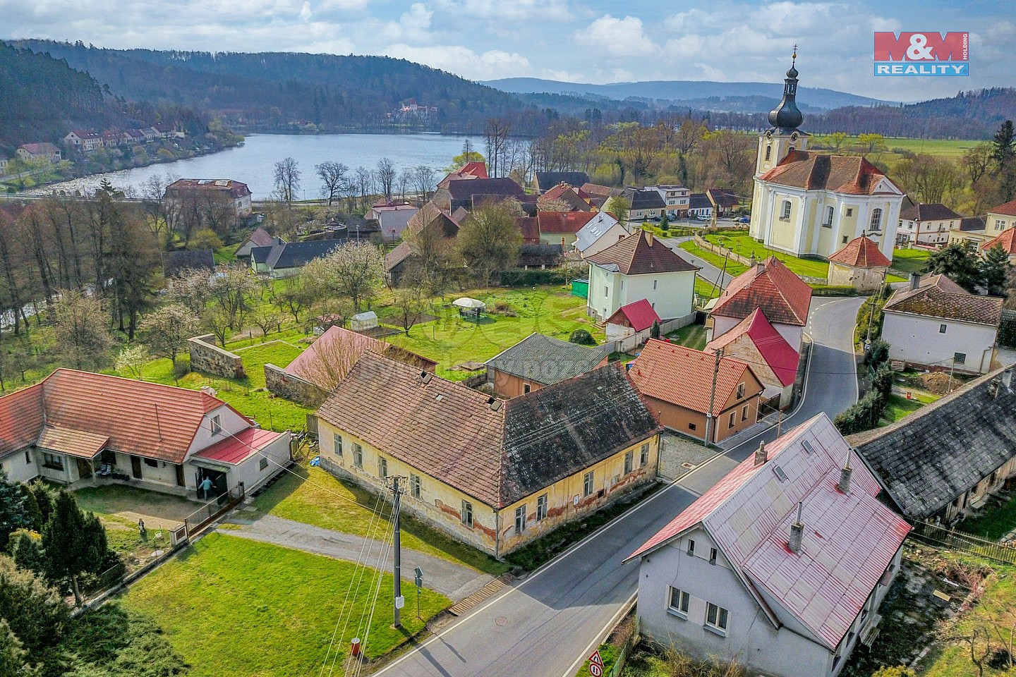
<svg viewBox="0 0 1016 677">
<path fill-rule="evenodd" d="M 812 288 L 782 261 L 769 257 L 726 285 L 706 321 L 706 336 L 710 341 L 719 338 L 760 308 L 779 335 L 801 352 L 811 306 Z"/>
</svg>

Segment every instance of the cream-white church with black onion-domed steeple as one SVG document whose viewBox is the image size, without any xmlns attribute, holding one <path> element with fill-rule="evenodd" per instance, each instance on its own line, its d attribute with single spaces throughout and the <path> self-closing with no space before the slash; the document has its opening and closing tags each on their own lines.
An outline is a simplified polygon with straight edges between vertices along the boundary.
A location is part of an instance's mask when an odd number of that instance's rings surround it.
<svg viewBox="0 0 1016 677">
<path fill-rule="evenodd" d="M 903 192 L 864 157 L 808 150 L 797 58 L 769 113 L 772 127 L 759 134 L 749 232 L 771 249 L 822 259 L 866 235 L 891 260 Z"/>
</svg>

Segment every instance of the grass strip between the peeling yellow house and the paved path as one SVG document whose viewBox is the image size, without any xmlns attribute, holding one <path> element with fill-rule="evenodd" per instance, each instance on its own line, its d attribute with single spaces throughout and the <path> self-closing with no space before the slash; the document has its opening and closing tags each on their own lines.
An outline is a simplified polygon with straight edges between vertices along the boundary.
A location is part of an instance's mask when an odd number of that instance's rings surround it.
<svg viewBox="0 0 1016 677">
<path fill-rule="evenodd" d="M 287 520 L 367 535 L 371 513 L 366 505 L 374 505 L 377 499 L 373 494 L 353 483 L 341 482 L 320 468 L 300 466 L 295 470 L 302 477 L 285 473 L 254 499 L 253 506 Z M 508 570 L 503 562 L 409 516 L 402 517 L 402 545 L 495 576 Z"/>
</svg>

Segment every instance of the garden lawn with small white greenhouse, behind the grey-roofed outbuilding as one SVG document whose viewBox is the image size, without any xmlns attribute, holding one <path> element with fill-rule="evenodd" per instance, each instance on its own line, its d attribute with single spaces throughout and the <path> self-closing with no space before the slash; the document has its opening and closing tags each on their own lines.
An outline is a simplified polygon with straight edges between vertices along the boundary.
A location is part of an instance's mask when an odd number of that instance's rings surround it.
<svg viewBox="0 0 1016 677">
<path fill-rule="evenodd" d="M 507 312 L 515 317 L 490 313 L 479 322 L 463 320 L 458 310 L 451 306 L 459 296 L 479 298 L 489 310 L 504 303 Z M 452 370 L 452 366 L 466 361 L 486 361 L 533 332 L 568 340 L 574 330 L 586 329 L 602 341 L 602 331 L 597 330 L 585 314 L 585 303 L 584 298 L 572 296 L 567 289 L 557 286 L 452 293 L 443 303 L 437 301 L 437 306 L 428 311 L 437 320 L 412 327 L 408 336 L 399 333 L 385 340 L 436 360 L 438 376 L 461 381 L 471 373 Z"/>
</svg>

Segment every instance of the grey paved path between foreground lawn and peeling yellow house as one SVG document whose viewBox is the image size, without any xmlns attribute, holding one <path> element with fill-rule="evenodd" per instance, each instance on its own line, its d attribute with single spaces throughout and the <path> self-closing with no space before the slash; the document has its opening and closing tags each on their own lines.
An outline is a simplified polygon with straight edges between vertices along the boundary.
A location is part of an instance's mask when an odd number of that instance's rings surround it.
<svg viewBox="0 0 1016 677">
<path fill-rule="evenodd" d="M 364 543 L 368 541 L 362 536 L 343 534 L 274 515 L 261 515 L 248 520 L 245 519 L 243 512 L 237 512 L 230 516 L 226 522 L 234 527 L 219 527 L 215 531 L 229 536 L 240 536 L 253 541 L 273 543 L 294 550 L 313 552 L 347 561 L 357 561 L 361 556 Z M 380 545 L 380 541 L 371 541 L 370 543 L 370 546 L 373 547 L 369 549 L 369 552 L 372 553 L 371 559 L 374 562 L 377 561 L 377 556 L 381 552 Z M 386 568 L 391 567 L 390 562 L 389 558 Z M 409 592 L 411 592 L 412 586 L 412 570 L 417 566 L 424 569 L 425 588 L 437 591 L 453 602 L 468 597 L 494 580 L 493 576 L 467 566 L 403 547 L 402 579 L 409 582 Z"/>
</svg>

